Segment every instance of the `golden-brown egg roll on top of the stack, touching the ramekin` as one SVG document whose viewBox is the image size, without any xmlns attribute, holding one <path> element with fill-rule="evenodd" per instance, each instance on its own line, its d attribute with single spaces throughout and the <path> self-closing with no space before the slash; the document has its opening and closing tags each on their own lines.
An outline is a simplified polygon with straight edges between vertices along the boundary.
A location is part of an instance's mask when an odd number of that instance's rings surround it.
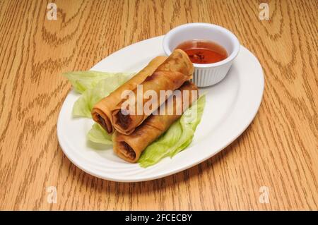
<svg viewBox="0 0 318 225">
<path fill-rule="evenodd" d="M 189 56 L 181 49 L 173 51 L 165 62 L 155 70 L 153 75 L 148 76 L 146 80 L 141 83 L 141 98 L 137 96 L 137 88 L 133 90 L 134 98 L 132 98 L 132 102 L 134 103 L 132 103 L 132 105 L 134 105 L 134 107 L 131 107 L 131 109 L 123 109 L 122 106 L 129 97 L 123 99 L 122 102 L 117 104 L 117 107 L 114 107 L 114 111 L 112 111 L 114 128 L 122 134 L 129 135 L 133 133 L 135 128 L 150 116 L 153 111 L 158 109 L 158 107 L 172 95 L 174 90 L 177 90 L 186 80 L 192 78 L 193 72 L 194 67 Z M 144 95 L 144 93 L 150 90 L 157 94 L 157 99 L 148 98 Z M 167 95 L 163 96 L 160 95 L 160 91 L 162 90 L 170 90 L 170 92 L 167 92 Z M 139 92 L 141 92 L 141 89 L 139 89 Z M 140 99 L 139 101 L 137 101 L 138 98 Z M 143 106 L 145 106 L 146 103 L 151 105 L 151 102 L 157 104 L 152 104 L 153 108 L 151 110 L 143 111 Z M 127 104 L 125 104 L 125 106 L 126 105 Z"/>
</svg>

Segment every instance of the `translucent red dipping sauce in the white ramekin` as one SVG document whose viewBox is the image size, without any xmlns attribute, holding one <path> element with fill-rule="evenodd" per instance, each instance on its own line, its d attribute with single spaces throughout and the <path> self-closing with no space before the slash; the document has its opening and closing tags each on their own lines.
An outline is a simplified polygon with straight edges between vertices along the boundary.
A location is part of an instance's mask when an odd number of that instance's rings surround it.
<svg viewBox="0 0 318 225">
<path fill-rule="evenodd" d="M 193 39 L 179 44 L 176 49 L 182 49 L 187 53 L 192 63 L 208 64 L 222 61 L 228 57 L 228 52 L 206 39 Z"/>
</svg>

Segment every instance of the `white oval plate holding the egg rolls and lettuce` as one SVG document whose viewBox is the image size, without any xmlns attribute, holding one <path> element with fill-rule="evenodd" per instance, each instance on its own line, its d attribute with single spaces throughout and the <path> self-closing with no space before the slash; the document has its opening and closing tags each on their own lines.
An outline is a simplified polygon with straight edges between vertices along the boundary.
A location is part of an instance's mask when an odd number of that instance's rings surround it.
<svg viewBox="0 0 318 225">
<path fill-rule="evenodd" d="M 164 55 L 163 36 L 132 44 L 100 61 L 91 70 L 139 71 L 155 56 Z M 257 58 L 245 47 L 223 81 L 204 87 L 206 107 L 192 144 L 172 159 L 165 158 L 146 169 L 117 157 L 112 147 L 86 140 L 93 125 L 89 118 L 72 118 L 74 102 L 80 95 L 67 95 L 57 121 L 57 136 L 64 154 L 88 174 L 110 181 L 148 181 L 175 174 L 213 157 L 235 140 L 257 114 L 264 90 L 264 75 Z M 100 147 L 100 150 L 95 150 Z"/>
</svg>

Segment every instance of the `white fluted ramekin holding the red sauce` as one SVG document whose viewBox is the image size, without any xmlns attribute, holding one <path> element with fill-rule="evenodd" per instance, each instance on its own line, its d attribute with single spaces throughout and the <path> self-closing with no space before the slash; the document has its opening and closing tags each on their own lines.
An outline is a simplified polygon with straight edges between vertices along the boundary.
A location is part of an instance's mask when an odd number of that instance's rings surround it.
<svg viewBox="0 0 318 225">
<path fill-rule="evenodd" d="M 228 51 L 228 58 L 217 63 L 194 65 L 192 81 L 199 87 L 214 85 L 228 73 L 232 61 L 240 51 L 240 42 L 229 30 L 211 23 L 187 23 L 173 28 L 163 38 L 163 50 L 168 56 L 182 42 L 207 39 L 220 44 Z"/>
</svg>

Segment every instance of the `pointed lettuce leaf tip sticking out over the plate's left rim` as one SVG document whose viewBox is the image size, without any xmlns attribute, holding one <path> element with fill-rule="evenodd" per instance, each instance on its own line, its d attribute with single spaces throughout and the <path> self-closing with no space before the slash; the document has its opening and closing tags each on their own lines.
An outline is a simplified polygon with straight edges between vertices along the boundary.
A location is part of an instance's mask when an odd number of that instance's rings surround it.
<svg viewBox="0 0 318 225">
<path fill-rule="evenodd" d="M 63 75 L 71 82 L 73 88 L 80 93 L 95 87 L 100 80 L 112 78 L 114 76 L 129 75 L 129 73 L 109 73 L 100 71 L 73 71 L 63 73 Z"/>
</svg>

